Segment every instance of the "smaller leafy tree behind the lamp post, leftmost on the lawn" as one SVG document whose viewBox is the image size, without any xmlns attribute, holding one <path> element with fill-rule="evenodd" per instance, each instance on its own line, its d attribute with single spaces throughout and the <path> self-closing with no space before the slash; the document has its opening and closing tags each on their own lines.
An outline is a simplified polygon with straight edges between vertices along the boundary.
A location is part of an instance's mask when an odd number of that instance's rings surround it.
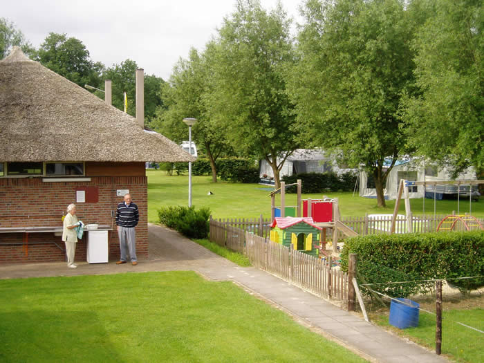
<svg viewBox="0 0 484 363">
<path fill-rule="evenodd" d="M 212 45 L 203 54 L 190 50 L 188 59 L 180 59 L 174 67 L 169 84 L 163 85 L 162 98 L 166 109 L 160 107 L 158 118 L 151 125 L 164 135 L 181 142 L 187 138 L 187 126 L 183 118 L 196 118 L 193 127 L 194 142 L 203 149 L 212 168 L 212 182 L 216 183 L 216 160 L 230 149 L 227 146 L 225 130 L 210 112 L 207 95 L 212 91 L 211 58 Z M 209 56 L 207 56 L 209 55 Z"/>
</svg>

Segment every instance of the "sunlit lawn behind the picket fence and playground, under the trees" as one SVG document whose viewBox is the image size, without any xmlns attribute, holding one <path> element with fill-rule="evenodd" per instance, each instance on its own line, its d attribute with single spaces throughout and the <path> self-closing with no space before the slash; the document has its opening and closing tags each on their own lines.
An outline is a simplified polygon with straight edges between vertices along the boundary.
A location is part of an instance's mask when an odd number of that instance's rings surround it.
<svg viewBox="0 0 484 363">
<path fill-rule="evenodd" d="M 188 205 L 188 176 L 167 176 L 165 171 L 147 170 L 148 176 L 148 220 L 158 221 L 157 210 L 164 205 Z M 212 183 L 211 176 L 192 177 L 192 204 L 195 207 L 210 207 L 214 218 L 252 218 L 263 214 L 270 217 L 270 187 L 258 184 Z M 208 192 L 214 193 L 207 195 Z M 342 216 L 364 216 L 368 214 L 391 214 L 395 201 L 387 201 L 387 207 L 376 207 L 376 200 L 362 198 L 353 192 L 328 192 L 331 198 L 339 198 Z M 303 194 L 303 198 L 321 198 L 322 194 Z M 411 199 L 413 215 L 423 212 L 422 199 Z M 279 195 L 276 205 L 279 205 Z M 296 205 L 296 194 L 286 194 L 286 205 Z M 437 201 L 437 214 L 457 211 L 457 201 Z M 400 214 L 405 213 L 400 203 Z M 434 214 L 434 201 L 425 200 L 425 212 Z M 469 201 L 460 201 L 460 212 L 469 212 Z M 484 201 L 472 203 L 472 214 L 484 216 Z"/>
</svg>

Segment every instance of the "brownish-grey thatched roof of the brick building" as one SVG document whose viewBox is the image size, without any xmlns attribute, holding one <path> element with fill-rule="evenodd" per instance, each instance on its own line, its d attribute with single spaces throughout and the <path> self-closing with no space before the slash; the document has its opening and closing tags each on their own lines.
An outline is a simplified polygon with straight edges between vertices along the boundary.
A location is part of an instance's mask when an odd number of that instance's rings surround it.
<svg viewBox="0 0 484 363">
<path fill-rule="evenodd" d="M 0 61 L 0 162 L 194 160 L 20 48 Z"/>
</svg>

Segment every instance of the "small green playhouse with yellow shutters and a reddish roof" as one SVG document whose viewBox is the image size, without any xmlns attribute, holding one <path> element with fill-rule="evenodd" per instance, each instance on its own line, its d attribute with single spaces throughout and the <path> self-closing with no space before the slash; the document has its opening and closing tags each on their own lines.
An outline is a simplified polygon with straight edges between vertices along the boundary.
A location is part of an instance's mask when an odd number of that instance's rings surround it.
<svg viewBox="0 0 484 363">
<path fill-rule="evenodd" d="M 322 228 L 311 217 L 276 217 L 270 225 L 270 240 L 312 256 L 319 254 L 319 238 Z"/>
</svg>

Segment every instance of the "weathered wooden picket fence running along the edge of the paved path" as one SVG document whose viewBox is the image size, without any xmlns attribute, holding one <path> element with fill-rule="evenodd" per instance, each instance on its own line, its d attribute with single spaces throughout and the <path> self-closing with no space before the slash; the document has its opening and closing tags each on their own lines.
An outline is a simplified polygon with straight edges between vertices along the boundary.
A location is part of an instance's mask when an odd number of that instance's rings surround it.
<svg viewBox="0 0 484 363">
<path fill-rule="evenodd" d="M 250 231 L 210 220 L 210 241 L 245 254 L 250 263 L 315 295 L 348 300 L 348 274 L 331 261 L 274 243 Z"/>
</svg>

